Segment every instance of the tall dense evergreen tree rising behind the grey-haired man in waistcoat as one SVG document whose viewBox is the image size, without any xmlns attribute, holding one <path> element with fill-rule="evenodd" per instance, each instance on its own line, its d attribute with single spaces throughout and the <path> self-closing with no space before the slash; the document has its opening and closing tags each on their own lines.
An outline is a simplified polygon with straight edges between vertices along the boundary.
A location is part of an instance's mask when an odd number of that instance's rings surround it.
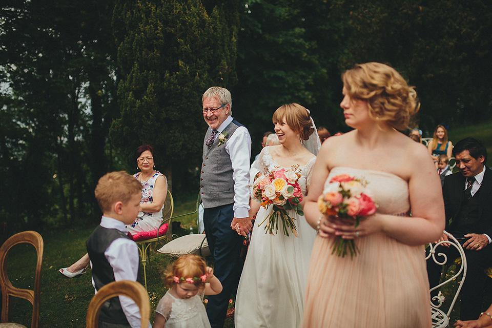
<svg viewBox="0 0 492 328">
<path fill-rule="evenodd" d="M 122 153 L 153 145 L 156 167 L 164 167 L 169 180 L 173 169 L 187 186 L 200 163 L 206 128 L 201 95 L 210 86 L 236 82 L 237 24 L 236 1 L 116 2 L 121 115 L 111 139 Z M 196 175 L 191 177 L 197 187 Z"/>
</svg>

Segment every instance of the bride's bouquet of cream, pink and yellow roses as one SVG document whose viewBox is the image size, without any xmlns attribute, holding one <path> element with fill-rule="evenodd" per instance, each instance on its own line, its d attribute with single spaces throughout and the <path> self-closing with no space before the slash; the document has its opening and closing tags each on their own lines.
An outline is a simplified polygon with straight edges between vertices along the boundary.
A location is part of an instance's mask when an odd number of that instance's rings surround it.
<svg viewBox="0 0 492 328">
<path fill-rule="evenodd" d="M 288 210 L 294 210 L 298 215 L 304 215 L 302 211 L 302 192 L 298 179 L 301 176 L 299 166 L 291 169 L 279 169 L 275 171 L 265 171 L 255 179 L 253 183 L 253 196 L 267 208 L 273 204 L 272 213 L 258 224 L 260 226 L 265 220 L 268 223 L 265 230 L 273 235 L 278 230 L 278 221 L 282 222 L 283 233 L 289 236 L 289 231 L 296 237 L 297 230 L 294 222 L 295 218 L 290 217 Z"/>
</svg>

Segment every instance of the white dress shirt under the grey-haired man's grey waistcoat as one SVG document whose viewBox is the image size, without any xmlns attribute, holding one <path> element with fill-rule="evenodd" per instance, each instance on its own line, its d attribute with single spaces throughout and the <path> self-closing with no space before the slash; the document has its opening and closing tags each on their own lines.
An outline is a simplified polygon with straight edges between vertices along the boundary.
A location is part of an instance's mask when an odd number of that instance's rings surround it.
<svg viewBox="0 0 492 328">
<path fill-rule="evenodd" d="M 215 138 L 226 129 L 232 122 L 232 116 L 218 127 Z M 227 139 L 226 151 L 231 157 L 232 178 L 234 180 L 234 217 L 248 217 L 250 209 L 250 156 L 251 156 L 251 137 L 248 129 L 238 127 L 236 131 Z"/>
</svg>

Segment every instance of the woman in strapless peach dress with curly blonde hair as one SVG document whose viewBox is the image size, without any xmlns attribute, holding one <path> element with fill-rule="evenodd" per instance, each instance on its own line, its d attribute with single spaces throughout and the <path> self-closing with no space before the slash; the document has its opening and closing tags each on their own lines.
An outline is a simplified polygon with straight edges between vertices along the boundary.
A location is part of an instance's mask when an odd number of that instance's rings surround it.
<svg viewBox="0 0 492 328">
<path fill-rule="evenodd" d="M 328 138 L 313 169 L 304 213 L 318 235 L 302 327 L 430 328 L 424 244 L 444 229 L 441 183 L 427 149 L 396 130 L 418 111 L 417 94 L 379 63 L 356 65 L 342 79 L 340 107 L 354 130 Z M 325 181 L 339 174 L 366 180 L 378 204 L 357 228 L 318 210 Z M 332 254 L 336 236 L 355 240 L 360 252 Z"/>
</svg>

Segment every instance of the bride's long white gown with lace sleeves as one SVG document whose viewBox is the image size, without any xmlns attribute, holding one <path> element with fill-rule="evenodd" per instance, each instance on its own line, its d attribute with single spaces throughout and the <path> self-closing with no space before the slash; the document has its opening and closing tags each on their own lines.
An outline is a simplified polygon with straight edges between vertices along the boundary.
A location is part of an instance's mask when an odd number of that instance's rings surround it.
<svg viewBox="0 0 492 328">
<path fill-rule="evenodd" d="M 282 168 L 273 160 L 268 148 L 263 148 L 255 164 L 260 172 L 264 169 Z M 313 157 L 300 167 L 301 177 L 298 183 L 304 196 L 315 159 Z M 280 222 L 275 235 L 265 234 L 267 221 L 261 222 L 271 211 L 272 206 L 267 209 L 260 207 L 256 216 L 237 291 L 236 328 L 297 328 L 302 321 L 306 276 L 316 231 L 309 226 L 304 216 L 291 210 L 288 212 L 296 219 L 299 237 L 291 233 L 289 237 L 285 236 Z"/>
</svg>

